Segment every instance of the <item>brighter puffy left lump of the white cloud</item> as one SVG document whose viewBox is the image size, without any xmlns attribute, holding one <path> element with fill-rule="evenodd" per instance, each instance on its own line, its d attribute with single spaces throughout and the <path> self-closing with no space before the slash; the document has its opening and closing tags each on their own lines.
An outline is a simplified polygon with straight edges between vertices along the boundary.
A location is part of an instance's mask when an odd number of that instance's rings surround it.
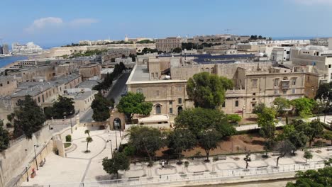
<svg viewBox="0 0 332 187">
<path fill-rule="evenodd" d="M 62 18 L 55 18 L 55 17 L 39 18 L 33 21 L 31 26 L 26 28 L 26 30 L 28 30 L 29 32 L 33 32 L 35 30 L 41 30 L 44 28 L 61 26 L 62 23 L 63 23 Z"/>
</svg>

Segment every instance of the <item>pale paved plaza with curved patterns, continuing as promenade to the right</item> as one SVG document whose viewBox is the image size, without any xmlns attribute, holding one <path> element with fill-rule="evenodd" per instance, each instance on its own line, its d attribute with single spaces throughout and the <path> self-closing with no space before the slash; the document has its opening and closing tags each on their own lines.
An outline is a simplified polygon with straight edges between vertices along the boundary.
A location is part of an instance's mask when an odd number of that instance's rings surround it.
<svg viewBox="0 0 332 187">
<path fill-rule="evenodd" d="M 87 149 L 87 142 L 84 134 L 86 128 L 80 127 L 74 131 L 72 135 L 72 149 L 66 152 L 67 157 L 60 157 L 55 154 L 49 154 L 46 157 L 46 162 L 43 167 L 37 171 L 37 176 L 30 179 L 29 182 L 24 182 L 22 186 L 31 186 L 33 184 L 44 184 L 54 186 L 61 183 L 94 183 L 97 181 L 112 180 L 112 176 L 107 174 L 102 166 L 102 159 L 104 157 L 111 157 L 111 145 L 107 140 L 111 140 L 113 149 L 116 148 L 116 135 L 117 142 L 120 144 L 121 137 L 118 132 L 109 130 L 91 130 L 90 136 L 93 142 L 89 144 L 90 153 L 84 153 Z M 122 140 L 126 141 L 126 140 Z M 123 143 L 123 142 L 122 142 Z M 321 153 L 316 152 L 318 149 L 311 149 L 314 154 L 313 159 L 308 163 L 323 163 L 323 160 L 328 159 L 332 155 L 332 151 L 328 149 L 319 149 Z M 280 159 L 280 167 L 293 169 L 295 164 L 306 164 L 306 159 L 303 158 L 304 152 L 297 151 L 294 157 L 284 157 Z M 274 169 L 276 165 L 277 155 L 264 159 L 262 154 L 251 154 L 252 162 L 249 162 L 248 169 L 254 169 L 256 172 L 266 169 Z M 175 176 L 183 176 L 184 174 L 192 174 L 193 176 L 203 173 L 228 173 L 242 171 L 245 169 L 244 154 L 230 155 L 220 157 L 216 162 L 205 163 L 202 159 L 189 159 L 189 166 L 184 167 L 184 164 L 177 165 L 176 161 L 171 161 L 170 164 L 165 165 L 162 169 L 159 162 L 155 162 L 153 167 L 148 167 L 148 163 L 135 163 L 131 164 L 129 171 L 120 171 L 122 179 L 149 179 L 155 178 L 160 180 L 169 180 Z M 184 161 L 186 161 L 184 159 Z M 294 169 L 295 169 L 294 165 Z M 241 170 L 239 170 L 241 169 Z"/>
</svg>

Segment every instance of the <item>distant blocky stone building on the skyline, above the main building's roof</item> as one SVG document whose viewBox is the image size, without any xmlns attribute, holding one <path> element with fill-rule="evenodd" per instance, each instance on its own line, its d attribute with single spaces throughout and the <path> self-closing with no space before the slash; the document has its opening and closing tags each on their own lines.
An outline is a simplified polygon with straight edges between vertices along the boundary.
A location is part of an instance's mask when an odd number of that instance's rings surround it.
<svg viewBox="0 0 332 187">
<path fill-rule="evenodd" d="M 165 39 L 156 39 L 155 46 L 157 50 L 172 52 L 175 48 L 180 47 L 182 45 L 182 38 L 179 37 L 169 37 Z"/>
</svg>

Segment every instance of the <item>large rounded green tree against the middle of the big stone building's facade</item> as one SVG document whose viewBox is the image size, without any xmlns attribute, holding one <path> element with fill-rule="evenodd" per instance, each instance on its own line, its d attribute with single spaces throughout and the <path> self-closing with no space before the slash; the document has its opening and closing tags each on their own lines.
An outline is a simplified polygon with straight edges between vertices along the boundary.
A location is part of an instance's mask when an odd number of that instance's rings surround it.
<svg viewBox="0 0 332 187">
<path fill-rule="evenodd" d="M 226 77 L 202 72 L 194 74 L 187 83 L 187 94 L 195 107 L 217 108 L 225 100 L 227 89 L 233 88 L 233 82 Z"/>
</svg>

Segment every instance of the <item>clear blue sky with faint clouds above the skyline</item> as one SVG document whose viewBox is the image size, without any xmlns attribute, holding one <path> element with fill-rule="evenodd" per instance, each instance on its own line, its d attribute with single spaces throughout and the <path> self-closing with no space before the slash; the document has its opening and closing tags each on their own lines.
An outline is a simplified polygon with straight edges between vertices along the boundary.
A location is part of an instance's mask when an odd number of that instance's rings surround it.
<svg viewBox="0 0 332 187">
<path fill-rule="evenodd" d="M 332 0 L 0 0 L 3 42 L 167 36 L 332 36 Z"/>
</svg>

